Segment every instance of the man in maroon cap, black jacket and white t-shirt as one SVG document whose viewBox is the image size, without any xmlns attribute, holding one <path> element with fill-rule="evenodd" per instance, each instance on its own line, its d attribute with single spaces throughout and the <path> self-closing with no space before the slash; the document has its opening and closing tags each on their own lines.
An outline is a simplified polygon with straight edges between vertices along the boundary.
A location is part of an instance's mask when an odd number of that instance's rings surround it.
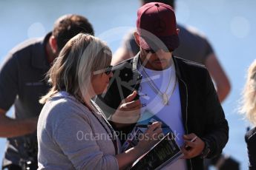
<svg viewBox="0 0 256 170">
<path fill-rule="evenodd" d="M 125 134 L 151 112 L 172 129 L 184 154 L 166 168 L 203 169 L 203 157 L 222 152 L 229 126 L 207 69 L 172 55 L 178 33 L 170 6 L 152 2 L 140 7 L 134 33 L 140 52 L 114 67 L 108 91 L 96 102 Z M 126 107 L 115 112 L 121 102 Z"/>
</svg>

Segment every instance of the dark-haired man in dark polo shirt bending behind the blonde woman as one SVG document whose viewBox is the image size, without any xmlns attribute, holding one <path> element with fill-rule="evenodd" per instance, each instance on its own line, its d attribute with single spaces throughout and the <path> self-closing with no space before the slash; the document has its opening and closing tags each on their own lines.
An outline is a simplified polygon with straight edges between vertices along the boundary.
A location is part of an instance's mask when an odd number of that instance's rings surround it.
<svg viewBox="0 0 256 170">
<path fill-rule="evenodd" d="M 78 33 L 94 34 L 88 19 L 61 16 L 44 38 L 24 41 L 7 55 L 0 70 L 0 137 L 7 137 L 3 169 L 37 169 L 36 124 L 43 106 L 39 98 L 50 88 L 45 74 Z M 6 114 L 13 104 L 14 118 L 9 118 Z"/>
</svg>

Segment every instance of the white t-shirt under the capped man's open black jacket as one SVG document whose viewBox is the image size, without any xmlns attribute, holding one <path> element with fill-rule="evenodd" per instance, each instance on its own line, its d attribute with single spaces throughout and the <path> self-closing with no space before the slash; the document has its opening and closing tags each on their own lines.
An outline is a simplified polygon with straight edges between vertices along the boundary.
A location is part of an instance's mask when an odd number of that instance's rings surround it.
<svg viewBox="0 0 256 170">
<path fill-rule="evenodd" d="M 157 95 L 148 84 L 148 78 L 145 78 L 145 73 L 142 73 L 142 69 L 144 69 L 148 77 L 154 81 L 157 88 L 168 95 L 169 101 L 167 105 L 164 105 L 163 98 L 160 95 Z M 139 89 L 140 101 L 142 103 L 141 114 L 147 110 L 147 112 L 157 115 L 160 120 L 171 128 L 176 136 L 178 145 L 182 146 L 185 131 L 183 128 L 183 118 L 180 106 L 180 90 L 175 69 L 173 67 L 168 67 L 168 69 L 156 71 L 140 66 L 139 71 L 143 75 Z M 170 166 L 165 166 L 165 168 L 186 170 L 186 160 L 177 160 Z"/>
</svg>

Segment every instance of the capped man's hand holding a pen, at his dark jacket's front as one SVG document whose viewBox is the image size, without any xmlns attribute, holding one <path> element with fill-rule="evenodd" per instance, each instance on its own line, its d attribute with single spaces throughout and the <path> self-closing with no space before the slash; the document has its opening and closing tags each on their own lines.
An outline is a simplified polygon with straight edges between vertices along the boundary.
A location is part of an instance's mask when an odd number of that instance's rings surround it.
<svg viewBox="0 0 256 170">
<path fill-rule="evenodd" d="M 195 140 L 191 141 L 193 138 L 195 138 Z M 194 133 L 183 135 L 183 139 L 184 145 L 181 148 L 184 154 L 183 159 L 191 159 L 192 157 L 197 157 L 203 152 L 205 143 Z"/>
</svg>

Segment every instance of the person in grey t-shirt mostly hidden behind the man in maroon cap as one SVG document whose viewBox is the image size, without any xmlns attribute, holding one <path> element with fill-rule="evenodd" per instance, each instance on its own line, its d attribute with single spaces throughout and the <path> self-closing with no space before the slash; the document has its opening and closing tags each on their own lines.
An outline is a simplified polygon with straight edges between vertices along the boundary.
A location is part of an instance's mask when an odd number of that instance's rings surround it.
<svg viewBox="0 0 256 170">
<path fill-rule="evenodd" d="M 141 0 L 141 3 L 146 4 L 152 1 L 154 0 Z M 155 1 L 168 4 L 173 8 L 175 7 L 174 0 Z M 177 27 L 180 29 L 180 46 L 174 50 L 174 56 L 206 65 L 211 78 L 214 80 L 219 100 L 220 102 L 223 102 L 229 95 L 231 85 L 229 83 L 229 78 L 224 72 L 223 67 L 221 67 L 220 62 L 211 47 L 211 44 L 203 34 L 199 33 L 193 27 L 184 27 L 181 24 L 177 24 Z M 134 40 L 133 33 L 134 32 L 126 35 L 122 46 L 116 50 L 112 60 L 113 65 L 134 57 L 140 51 L 140 47 L 138 47 Z"/>
</svg>

